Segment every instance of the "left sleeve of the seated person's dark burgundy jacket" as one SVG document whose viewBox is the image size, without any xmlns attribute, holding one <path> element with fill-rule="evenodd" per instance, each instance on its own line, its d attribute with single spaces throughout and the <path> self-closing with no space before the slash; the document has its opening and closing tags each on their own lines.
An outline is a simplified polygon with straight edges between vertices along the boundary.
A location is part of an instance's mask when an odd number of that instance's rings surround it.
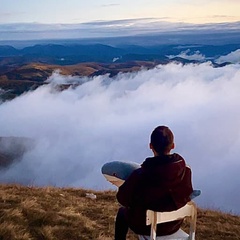
<svg viewBox="0 0 240 240">
<path fill-rule="evenodd" d="M 119 187 L 117 192 L 117 200 L 124 207 L 133 205 L 136 187 L 139 185 L 141 179 L 141 168 L 136 169 L 126 179 L 126 181 Z"/>
</svg>

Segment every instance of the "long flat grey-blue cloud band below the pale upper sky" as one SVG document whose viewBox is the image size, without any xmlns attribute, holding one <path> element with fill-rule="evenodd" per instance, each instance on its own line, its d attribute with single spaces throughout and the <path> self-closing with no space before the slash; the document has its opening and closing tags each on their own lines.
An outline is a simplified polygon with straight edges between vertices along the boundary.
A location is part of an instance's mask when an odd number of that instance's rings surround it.
<svg viewBox="0 0 240 240">
<path fill-rule="evenodd" d="M 135 36 L 183 32 L 239 32 L 240 22 L 218 24 L 187 24 L 169 22 L 168 18 L 138 18 L 92 21 L 79 24 L 17 23 L 0 24 L 0 40 L 71 39 Z"/>
</svg>

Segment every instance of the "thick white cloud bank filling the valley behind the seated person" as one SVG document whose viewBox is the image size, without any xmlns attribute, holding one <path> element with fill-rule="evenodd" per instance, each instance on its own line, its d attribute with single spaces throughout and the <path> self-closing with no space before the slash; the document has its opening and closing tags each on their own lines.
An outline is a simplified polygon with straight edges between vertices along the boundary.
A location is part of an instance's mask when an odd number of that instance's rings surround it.
<svg viewBox="0 0 240 240">
<path fill-rule="evenodd" d="M 101 174 L 113 160 L 141 163 L 151 131 L 169 126 L 191 166 L 202 207 L 240 214 L 240 65 L 159 65 L 136 73 L 64 77 L 0 105 L 0 136 L 36 146 L 1 182 L 114 189 Z M 75 83 L 65 91 L 59 83 Z M 80 85 L 76 85 L 79 84 Z"/>
</svg>

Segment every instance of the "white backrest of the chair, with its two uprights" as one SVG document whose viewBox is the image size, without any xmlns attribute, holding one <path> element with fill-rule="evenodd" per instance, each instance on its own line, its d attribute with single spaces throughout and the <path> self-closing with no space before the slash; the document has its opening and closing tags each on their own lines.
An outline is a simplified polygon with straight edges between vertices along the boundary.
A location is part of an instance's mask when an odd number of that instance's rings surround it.
<svg viewBox="0 0 240 240">
<path fill-rule="evenodd" d="M 197 207 L 193 201 L 188 202 L 182 208 L 171 212 L 155 212 L 147 210 L 146 224 L 151 225 L 151 240 L 156 240 L 157 224 L 171 222 L 178 219 L 189 217 L 189 240 L 195 240 Z"/>
</svg>

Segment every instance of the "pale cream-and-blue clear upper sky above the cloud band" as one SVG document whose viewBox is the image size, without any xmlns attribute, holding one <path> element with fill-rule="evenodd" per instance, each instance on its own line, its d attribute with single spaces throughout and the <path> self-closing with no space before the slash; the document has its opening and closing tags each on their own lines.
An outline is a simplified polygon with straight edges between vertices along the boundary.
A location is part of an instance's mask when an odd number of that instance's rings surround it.
<svg viewBox="0 0 240 240">
<path fill-rule="evenodd" d="M 240 21 L 239 0 L 0 0 L 0 23 L 85 23 L 157 18 L 170 22 Z"/>
</svg>

